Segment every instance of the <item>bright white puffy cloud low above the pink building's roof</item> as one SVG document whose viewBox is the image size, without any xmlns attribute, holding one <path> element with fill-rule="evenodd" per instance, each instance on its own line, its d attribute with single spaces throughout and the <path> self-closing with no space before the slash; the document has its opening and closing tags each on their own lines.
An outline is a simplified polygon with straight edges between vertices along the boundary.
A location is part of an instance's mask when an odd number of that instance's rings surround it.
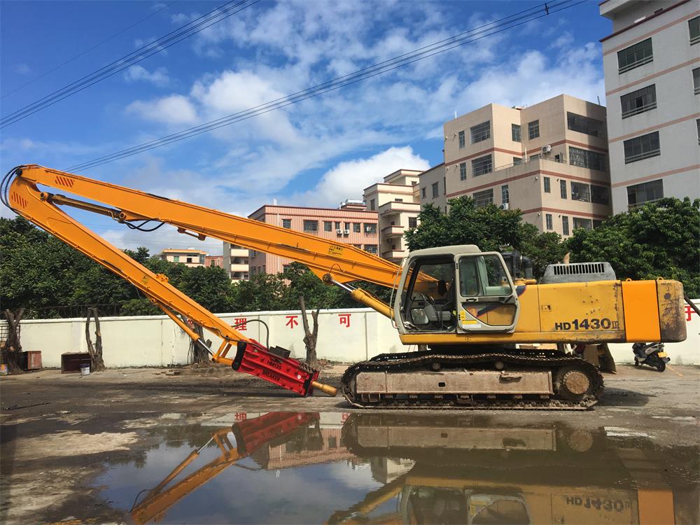
<svg viewBox="0 0 700 525">
<path fill-rule="evenodd" d="M 293 200 L 305 205 L 335 207 L 345 199 L 362 197 L 364 188 L 381 182 L 397 169 L 428 169 L 428 161 L 410 146 L 388 148 L 370 158 L 346 160 L 325 172 L 316 187 Z"/>
</svg>

